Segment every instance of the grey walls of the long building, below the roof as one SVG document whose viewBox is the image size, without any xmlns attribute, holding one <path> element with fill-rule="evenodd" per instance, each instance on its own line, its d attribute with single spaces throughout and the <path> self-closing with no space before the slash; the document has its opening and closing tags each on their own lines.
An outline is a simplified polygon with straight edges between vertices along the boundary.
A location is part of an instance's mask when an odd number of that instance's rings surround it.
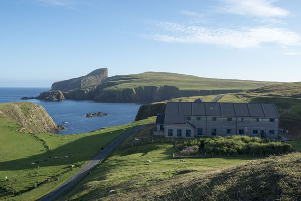
<svg viewBox="0 0 301 201">
<path fill-rule="evenodd" d="M 177 129 L 182 129 L 182 137 L 185 136 L 185 130 L 191 129 L 191 137 L 198 136 L 198 128 L 202 128 L 203 135 L 212 137 L 212 129 L 216 129 L 217 136 L 229 136 L 229 135 L 240 135 L 239 130 L 244 130 L 245 136 L 250 137 L 261 137 L 260 131 L 263 130 L 265 137 L 270 139 L 278 138 L 279 132 L 279 118 L 273 118 L 274 122 L 270 122 L 270 118 L 261 118 L 260 122 L 257 122 L 256 117 L 244 118 L 244 121 L 239 121 L 239 117 L 232 117 L 231 121 L 228 121 L 227 117 L 216 117 L 216 120 L 212 120 L 213 117 L 200 117 L 197 120 L 197 116 L 191 116 L 191 120 L 187 121 L 194 125 L 197 129 L 193 130 L 187 125 L 174 125 L 165 124 L 165 136 L 168 136 L 168 129 L 173 129 L 173 137 L 177 137 Z M 157 129 L 160 130 L 160 126 Z M 231 134 L 227 134 L 227 129 L 231 129 Z M 253 130 L 258 130 L 258 134 L 253 134 Z M 275 134 L 270 134 L 269 131 L 274 130 Z"/>
</svg>

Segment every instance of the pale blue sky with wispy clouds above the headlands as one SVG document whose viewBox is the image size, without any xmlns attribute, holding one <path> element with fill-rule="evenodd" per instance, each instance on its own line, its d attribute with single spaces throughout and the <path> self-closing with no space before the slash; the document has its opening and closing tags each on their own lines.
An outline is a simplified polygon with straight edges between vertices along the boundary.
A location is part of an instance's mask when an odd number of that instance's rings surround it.
<svg viewBox="0 0 301 201">
<path fill-rule="evenodd" d="M 301 81 L 299 0 L 1 0 L 0 87 L 107 67 Z"/>
</svg>

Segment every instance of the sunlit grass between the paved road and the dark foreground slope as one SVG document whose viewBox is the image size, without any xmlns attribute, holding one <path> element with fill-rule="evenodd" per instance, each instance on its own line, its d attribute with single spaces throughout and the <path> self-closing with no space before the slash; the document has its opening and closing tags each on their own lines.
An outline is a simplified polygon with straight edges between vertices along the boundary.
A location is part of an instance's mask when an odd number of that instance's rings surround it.
<svg viewBox="0 0 301 201">
<path fill-rule="evenodd" d="M 254 158 L 185 158 L 185 162 L 173 158 L 173 145 L 148 144 L 117 149 L 107 161 L 60 200 L 137 200 L 149 195 L 161 194 L 173 184 L 183 181 L 183 175 L 192 172 L 184 180 L 207 175 L 222 169 L 245 164 Z M 147 162 L 150 160 L 152 162 Z M 161 185 L 158 186 L 158 182 Z M 117 194 L 107 197 L 110 190 Z"/>
</svg>

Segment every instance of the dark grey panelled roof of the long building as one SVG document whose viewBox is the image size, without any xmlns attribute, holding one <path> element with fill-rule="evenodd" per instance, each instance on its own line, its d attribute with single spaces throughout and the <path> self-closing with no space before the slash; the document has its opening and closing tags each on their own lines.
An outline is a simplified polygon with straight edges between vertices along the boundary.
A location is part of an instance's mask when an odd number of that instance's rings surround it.
<svg viewBox="0 0 301 201">
<path fill-rule="evenodd" d="M 164 122 L 185 124 L 185 117 L 190 115 L 224 117 L 279 117 L 275 105 L 272 103 L 167 102 Z"/>
</svg>

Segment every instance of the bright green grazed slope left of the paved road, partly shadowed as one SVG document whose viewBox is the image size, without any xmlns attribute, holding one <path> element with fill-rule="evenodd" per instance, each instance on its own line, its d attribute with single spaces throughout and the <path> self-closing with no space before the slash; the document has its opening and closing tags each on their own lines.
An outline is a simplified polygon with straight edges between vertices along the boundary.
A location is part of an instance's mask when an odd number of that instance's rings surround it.
<svg viewBox="0 0 301 201">
<path fill-rule="evenodd" d="M 80 135 L 29 134 L 16 131 L 21 126 L 0 115 L 0 185 L 22 192 L 48 179 L 48 182 L 37 188 L 9 199 L 35 200 L 76 173 L 100 152 L 101 146 L 105 147 L 125 131 L 151 121 L 154 118 Z M 48 146 L 50 150 L 47 149 Z M 36 161 L 36 165 L 31 165 Z M 70 168 L 72 164 L 76 165 L 74 170 Z M 8 181 L 4 180 L 6 176 Z M 0 190 L 0 199 L 10 196 L 11 193 Z"/>
</svg>

